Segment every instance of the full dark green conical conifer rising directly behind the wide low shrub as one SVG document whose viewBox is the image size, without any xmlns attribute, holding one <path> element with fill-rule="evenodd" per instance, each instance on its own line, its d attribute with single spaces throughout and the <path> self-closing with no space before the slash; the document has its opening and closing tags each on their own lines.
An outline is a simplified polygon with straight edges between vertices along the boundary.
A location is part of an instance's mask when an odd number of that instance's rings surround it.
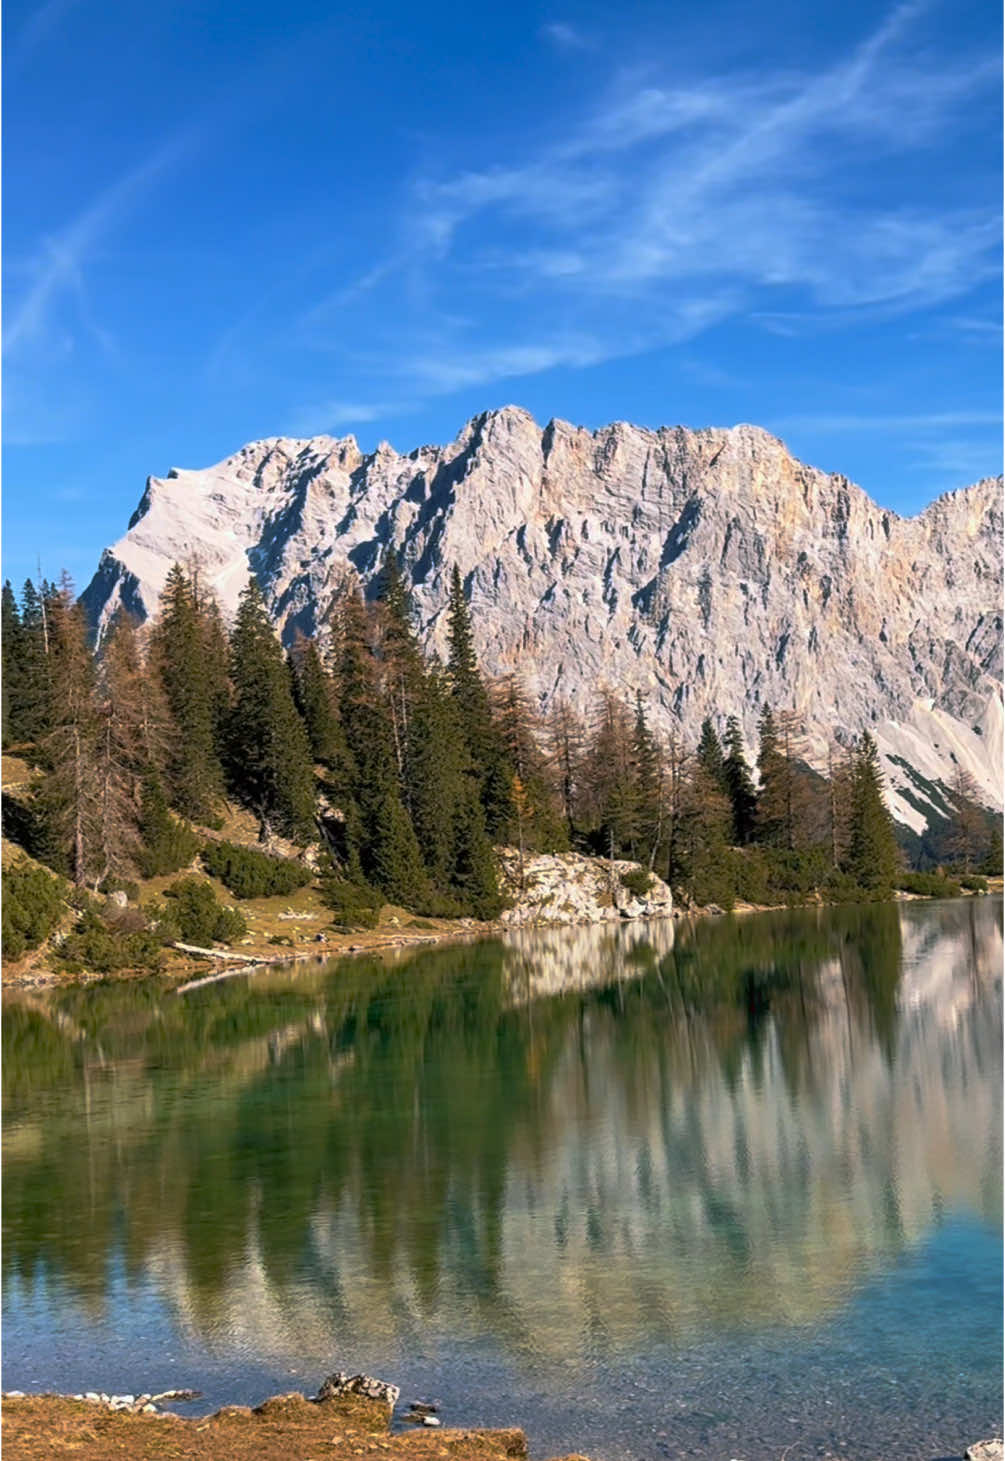
<svg viewBox="0 0 1005 1461">
<path fill-rule="evenodd" d="M 314 834 L 310 744 L 254 579 L 241 595 L 234 621 L 231 681 L 231 783 L 259 817 L 263 840 L 276 830 L 307 843 Z"/>
</svg>

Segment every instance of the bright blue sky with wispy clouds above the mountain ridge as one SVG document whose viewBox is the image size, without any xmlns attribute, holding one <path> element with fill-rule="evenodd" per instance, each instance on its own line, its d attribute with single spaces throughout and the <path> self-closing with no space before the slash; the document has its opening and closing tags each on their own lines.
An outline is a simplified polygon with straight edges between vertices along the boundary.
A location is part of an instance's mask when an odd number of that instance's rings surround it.
<svg viewBox="0 0 1005 1461">
<path fill-rule="evenodd" d="M 4 573 L 256 437 L 732 425 L 1001 470 L 1001 32 L 841 6 L 4 6 Z"/>
</svg>

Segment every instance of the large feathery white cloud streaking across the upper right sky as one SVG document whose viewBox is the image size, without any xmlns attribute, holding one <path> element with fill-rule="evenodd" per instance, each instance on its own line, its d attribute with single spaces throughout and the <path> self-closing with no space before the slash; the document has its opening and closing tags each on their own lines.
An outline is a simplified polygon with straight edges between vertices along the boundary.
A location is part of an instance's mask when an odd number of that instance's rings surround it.
<svg viewBox="0 0 1005 1461">
<path fill-rule="evenodd" d="M 390 377 L 418 396 L 584 368 L 736 317 L 805 335 L 964 300 L 998 275 L 998 202 L 938 199 L 919 164 L 990 95 L 998 63 L 925 45 L 925 16 L 920 0 L 897 6 L 817 72 L 621 75 L 521 155 L 427 169 L 397 241 L 301 313 L 304 339 L 337 337 L 374 392 Z M 562 19 L 542 37 L 583 39 Z M 881 183 L 866 161 L 884 162 Z M 351 326 L 364 298 L 396 318 L 367 346 Z"/>
</svg>

